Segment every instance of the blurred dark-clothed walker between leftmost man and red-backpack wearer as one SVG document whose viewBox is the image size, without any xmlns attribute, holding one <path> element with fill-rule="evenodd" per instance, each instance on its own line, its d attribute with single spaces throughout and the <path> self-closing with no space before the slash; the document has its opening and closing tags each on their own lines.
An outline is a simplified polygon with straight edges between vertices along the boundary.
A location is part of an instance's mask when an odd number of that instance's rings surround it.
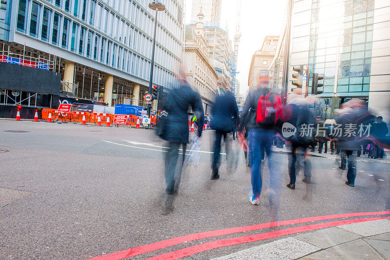
<svg viewBox="0 0 390 260">
<path fill-rule="evenodd" d="M 237 125 L 238 118 L 238 107 L 232 92 L 226 88 L 224 91 L 225 94 L 218 96 L 215 99 L 214 106 L 211 111 L 211 128 L 215 130 L 212 165 L 213 173 L 211 175 L 212 180 L 219 178 L 218 167 L 220 161 L 221 139 L 223 137 L 226 150 L 229 150 L 226 135 L 234 130 L 234 127 Z"/>
</svg>

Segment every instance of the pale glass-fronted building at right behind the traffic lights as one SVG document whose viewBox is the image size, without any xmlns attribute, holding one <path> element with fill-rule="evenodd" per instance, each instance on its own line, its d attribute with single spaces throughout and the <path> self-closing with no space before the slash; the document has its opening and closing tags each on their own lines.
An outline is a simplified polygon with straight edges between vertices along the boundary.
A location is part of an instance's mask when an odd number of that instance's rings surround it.
<svg viewBox="0 0 390 260">
<path fill-rule="evenodd" d="M 360 98 L 389 118 L 389 46 L 388 0 L 294 1 L 290 64 L 305 66 L 309 94 L 312 73 L 324 75 L 323 117 Z"/>
</svg>

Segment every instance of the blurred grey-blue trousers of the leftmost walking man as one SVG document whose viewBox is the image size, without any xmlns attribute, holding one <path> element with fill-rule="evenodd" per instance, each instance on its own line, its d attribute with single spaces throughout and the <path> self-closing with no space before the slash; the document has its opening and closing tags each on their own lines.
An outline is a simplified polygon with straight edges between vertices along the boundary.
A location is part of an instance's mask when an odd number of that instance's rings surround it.
<svg viewBox="0 0 390 260">
<path fill-rule="evenodd" d="M 177 159 L 179 158 L 179 147 L 182 145 L 183 156 L 180 162 L 177 175 L 175 177 Z M 185 143 L 180 142 L 169 142 L 168 143 L 168 153 L 166 153 L 165 157 L 165 184 L 167 185 L 167 191 L 173 191 L 175 188 L 175 182 L 180 180 L 181 170 L 183 168 L 183 162 L 186 154 L 186 146 Z"/>
</svg>

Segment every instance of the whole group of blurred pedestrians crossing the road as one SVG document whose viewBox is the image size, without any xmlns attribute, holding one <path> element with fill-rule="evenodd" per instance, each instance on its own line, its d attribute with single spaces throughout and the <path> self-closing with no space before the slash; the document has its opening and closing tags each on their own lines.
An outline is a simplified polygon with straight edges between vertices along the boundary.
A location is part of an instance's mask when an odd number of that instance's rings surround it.
<svg viewBox="0 0 390 260">
<path fill-rule="evenodd" d="M 315 96 L 295 98 L 282 104 L 281 97 L 270 91 L 269 78 L 260 77 L 259 85 L 249 92 L 243 110 L 238 112 L 233 94 L 222 89 L 211 111 L 211 118 L 204 117 L 200 95 L 188 82 L 179 77 L 180 86 L 170 91 L 164 100 L 164 113 L 157 123 L 157 135 L 168 142 L 165 160 L 166 192 L 175 194 L 178 189 L 182 167 L 185 161 L 186 145 L 189 143 L 188 111 L 193 112 L 191 120 L 196 125 L 197 138 L 202 135 L 204 125 L 214 131 L 211 179 L 217 180 L 221 161 L 221 146 L 228 153 L 232 143 L 227 138 L 233 133 L 238 137 L 247 165 L 251 171 L 249 201 L 258 205 L 262 192 L 262 167 L 267 161 L 269 169 L 270 220 L 278 220 L 282 172 L 274 157 L 273 144 L 283 144 L 289 149 L 289 183 L 295 189 L 297 174 L 303 170 L 303 182 L 312 182 L 310 151 L 318 147 L 318 153 L 336 154 L 335 163 L 341 171 L 347 172 L 345 184 L 354 187 L 357 157 L 367 155 L 383 160 L 384 148 L 390 144 L 388 125 L 381 116 L 374 116 L 365 100 L 351 99 L 334 110 L 333 119 L 325 121 L 314 116 L 312 104 Z M 192 142 L 194 140 L 191 140 Z M 196 142 L 196 140 L 195 140 Z M 181 147 L 182 157 L 179 159 Z M 265 157 L 266 155 L 266 157 Z M 266 160 L 265 160 L 266 159 Z M 177 165 L 179 163 L 179 165 Z M 285 186 L 285 187 L 286 187 Z"/>
</svg>

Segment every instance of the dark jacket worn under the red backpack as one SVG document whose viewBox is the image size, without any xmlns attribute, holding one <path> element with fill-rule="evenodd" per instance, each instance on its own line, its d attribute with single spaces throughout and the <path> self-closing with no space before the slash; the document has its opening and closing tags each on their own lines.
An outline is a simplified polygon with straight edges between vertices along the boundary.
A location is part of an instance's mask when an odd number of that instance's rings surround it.
<svg viewBox="0 0 390 260">
<path fill-rule="evenodd" d="M 245 100 L 244 108 L 241 112 L 240 123 L 238 127 L 238 131 L 242 131 L 244 127 L 245 119 L 250 116 L 248 128 L 269 128 L 268 126 L 264 126 L 256 123 L 256 111 L 257 111 L 257 103 L 261 96 L 266 96 L 270 90 L 268 88 L 258 88 L 249 92 L 247 99 Z M 249 109 L 251 109 L 251 113 L 249 113 Z"/>
</svg>

